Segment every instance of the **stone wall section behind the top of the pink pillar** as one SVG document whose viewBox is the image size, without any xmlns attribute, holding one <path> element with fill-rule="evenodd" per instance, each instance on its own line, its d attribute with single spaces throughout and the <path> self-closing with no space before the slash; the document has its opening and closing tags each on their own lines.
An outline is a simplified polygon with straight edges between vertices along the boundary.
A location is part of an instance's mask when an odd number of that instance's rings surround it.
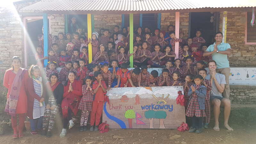
<svg viewBox="0 0 256 144">
<path fill-rule="evenodd" d="M 180 12 L 180 31 L 188 38 L 189 13 Z M 161 30 L 167 31 L 169 25 L 175 26 L 175 13 L 161 13 Z"/>
</svg>

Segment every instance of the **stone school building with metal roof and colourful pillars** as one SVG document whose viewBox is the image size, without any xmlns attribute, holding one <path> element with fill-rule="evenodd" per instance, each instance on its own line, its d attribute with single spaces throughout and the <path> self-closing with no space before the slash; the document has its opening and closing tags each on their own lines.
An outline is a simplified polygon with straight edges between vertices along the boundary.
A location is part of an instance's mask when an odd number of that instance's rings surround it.
<svg viewBox="0 0 256 144">
<path fill-rule="evenodd" d="M 215 32 L 223 32 L 223 41 L 229 43 L 232 50 L 228 56 L 232 72 L 231 81 L 232 78 L 234 81 L 243 79 L 241 84 L 251 84 L 246 87 L 231 87 L 231 100 L 233 99 L 233 103 L 255 104 L 256 25 L 252 27 L 251 21 L 256 1 L 220 2 L 210 4 L 207 1 L 199 3 L 195 0 L 20 0 L 9 7 L 0 6 L 0 69 L 9 68 L 14 55 L 21 58 L 22 67 L 31 65 L 39 34 L 44 35 L 44 52 L 47 54 L 48 34 L 55 36 L 59 32 L 67 33 L 72 17 L 76 17 L 82 28 L 88 31 L 88 37 L 91 37 L 93 31 L 100 33 L 103 29 L 109 29 L 113 32 L 115 25 L 120 28 L 130 26 L 130 51 L 133 50 L 133 29 L 148 26 L 151 32 L 155 28 L 167 31 L 167 26 L 172 24 L 175 25 L 177 38 L 180 31 L 184 33 L 184 38 L 187 38 L 194 37 L 196 29 L 202 29 L 202 36 L 207 44 L 214 42 Z M 90 49 L 89 45 L 89 58 Z"/>
</svg>

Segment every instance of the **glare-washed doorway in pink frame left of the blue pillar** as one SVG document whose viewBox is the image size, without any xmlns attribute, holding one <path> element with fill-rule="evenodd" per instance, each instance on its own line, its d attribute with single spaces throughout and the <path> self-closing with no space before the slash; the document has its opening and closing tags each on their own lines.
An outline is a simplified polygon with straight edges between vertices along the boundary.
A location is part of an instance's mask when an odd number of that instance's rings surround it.
<svg viewBox="0 0 256 144">
<path fill-rule="evenodd" d="M 28 50 L 28 66 L 36 64 L 35 54 L 36 46 L 39 45 L 38 38 L 43 35 L 43 19 L 28 19 L 27 21 L 27 50 Z M 31 40 L 32 44 L 30 43 Z"/>
</svg>

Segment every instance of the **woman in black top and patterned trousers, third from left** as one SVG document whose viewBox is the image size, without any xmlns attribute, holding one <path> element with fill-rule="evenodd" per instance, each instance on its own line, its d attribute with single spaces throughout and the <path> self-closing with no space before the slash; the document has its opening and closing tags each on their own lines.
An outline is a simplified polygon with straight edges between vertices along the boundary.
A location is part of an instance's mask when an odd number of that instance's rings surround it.
<svg viewBox="0 0 256 144">
<path fill-rule="evenodd" d="M 56 121 L 56 116 L 59 114 L 64 93 L 64 86 L 58 82 L 58 74 L 52 73 L 49 78 L 50 82 L 47 83 L 49 93 L 48 97 L 45 98 L 46 108 L 44 110 L 43 131 L 41 134 L 42 136 L 46 135 L 46 138 L 52 136 L 52 129 Z"/>
</svg>

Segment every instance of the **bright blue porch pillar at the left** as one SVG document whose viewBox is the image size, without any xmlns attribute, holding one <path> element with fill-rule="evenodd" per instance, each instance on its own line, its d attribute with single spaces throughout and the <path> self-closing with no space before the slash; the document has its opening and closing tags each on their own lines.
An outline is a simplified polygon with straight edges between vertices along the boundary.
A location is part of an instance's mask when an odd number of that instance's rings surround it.
<svg viewBox="0 0 256 144">
<path fill-rule="evenodd" d="M 48 30 L 48 17 L 47 17 L 47 13 L 43 13 L 43 24 L 44 24 L 44 56 L 48 56 L 48 33 L 49 33 L 49 30 Z M 47 63 L 48 60 L 44 60 L 44 67 L 47 66 Z"/>
</svg>

